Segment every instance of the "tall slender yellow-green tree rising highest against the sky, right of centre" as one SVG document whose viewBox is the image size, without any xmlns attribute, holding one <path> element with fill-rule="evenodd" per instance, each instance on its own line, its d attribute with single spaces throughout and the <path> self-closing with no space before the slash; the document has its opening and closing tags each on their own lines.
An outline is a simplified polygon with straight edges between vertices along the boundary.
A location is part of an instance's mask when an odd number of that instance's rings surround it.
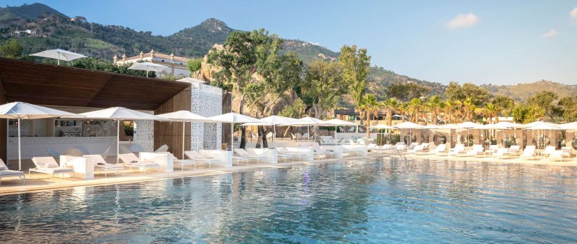
<svg viewBox="0 0 577 244">
<path fill-rule="evenodd" d="M 343 81 L 350 85 L 350 96 L 359 109 L 366 89 L 366 76 L 369 75 L 371 56 L 366 55 L 366 49 L 358 49 L 356 45 L 341 47 L 339 64 L 343 69 Z"/>
</svg>

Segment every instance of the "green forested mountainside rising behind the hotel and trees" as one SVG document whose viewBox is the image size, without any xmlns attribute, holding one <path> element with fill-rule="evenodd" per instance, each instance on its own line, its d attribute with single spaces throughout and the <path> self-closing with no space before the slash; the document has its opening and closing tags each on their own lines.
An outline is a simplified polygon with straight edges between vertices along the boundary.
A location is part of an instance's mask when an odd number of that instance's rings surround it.
<svg viewBox="0 0 577 244">
<path fill-rule="evenodd" d="M 41 52 L 45 49 L 62 48 L 87 56 L 112 60 L 114 55 L 135 56 L 139 52 L 174 53 L 177 56 L 201 57 L 214 44 L 225 42 L 229 33 L 238 31 L 225 22 L 208 19 L 170 36 L 155 36 L 150 31 L 135 31 L 124 26 L 103 25 L 90 22 L 90 17 L 71 18 L 59 11 L 34 3 L 20 7 L 0 8 L 0 44 L 17 38 L 24 47 L 24 54 Z M 31 33 L 15 33 L 30 29 Z M 271 30 L 271 33 L 274 33 Z M 303 40 L 285 40 L 282 52 L 297 52 L 305 63 L 316 59 L 336 60 L 338 52 L 314 45 Z M 416 82 L 429 86 L 432 93 L 443 93 L 444 86 L 419 79 L 398 75 L 384 68 L 371 67 L 369 90 L 383 98 L 387 86 L 399 82 Z M 341 105 L 349 106 L 345 99 Z"/>
</svg>

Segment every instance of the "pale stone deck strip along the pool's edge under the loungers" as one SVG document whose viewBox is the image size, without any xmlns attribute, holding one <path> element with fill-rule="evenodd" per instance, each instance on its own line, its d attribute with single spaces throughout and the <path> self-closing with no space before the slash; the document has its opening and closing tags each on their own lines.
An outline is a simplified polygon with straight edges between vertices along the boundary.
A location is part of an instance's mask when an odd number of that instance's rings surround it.
<svg viewBox="0 0 577 244">
<path fill-rule="evenodd" d="M 466 162 L 492 162 L 501 164 L 525 164 L 525 165 L 548 165 L 551 167 L 563 167 L 563 166 L 577 166 L 577 158 L 569 158 L 567 160 L 560 161 L 549 161 L 548 159 L 536 158 L 536 160 L 525 160 L 518 157 L 511 158 L 492 158 L 492 157 L 455 157 L 447 155 L 427 155 L 427 154 L 417 154 L 417 155 L 404 155 L 408 159 L 427 159 L 427 160 L 440 160 L 440 161 L 466 161 Z M 108 173 L 108 177 L 104 177 L 104 173 L 94 174 L 94 179 L 83 180 L 77 178 L 59 178 L 55 176 L 54 182 L 50 180 L 48 174 L 31 174 L 31 177 L 27 176 L 27 180 L 21 181 L 17 178 L 5 178 L 1 182 L 0 195 L 9 195 L 22 192 L 38 192 L 45 190 L 57 190 L 64 188 L 76 188 L 76 187 L 86 187 L 95 185 L 111 185 L 117 183 L 135 183 L 143 181 L 157 181 L 166 178 L 180 178 L 180 177 L 192 177 L 192 176 L 210 176 L 215 174 L 228 174 L 240 171 L 254 171 L 259 169 L 271 169 L 271 168 L 283 168 L 292 167 L 294 165 L 320 165 L 323 163 L 330 162 L 341 162 L 343 160 L 361 160 L 366 158 L 382 158 L 382 157 L 395 157 L 398 155 L 393 153 L 369 153 L 368 156 L 353 156 L 346 158 L 328 158 L 314 161 L 298 161 L 298 162 L 279 162 L 278 164 L 270 163 L 260 163 L 256 164 L 251 162 L 249 165 L 242 164 L 241 166 L 234 167 L 213 167 L 209 169 L 208 167 L 198 167 L 197 169 L 185 169 L 180 171 L 180 169 L 175 169 L 173 172 L 156 172 L 156 171 L 126 171 L 124 176 L 122 173 Z M 24 164 L 29 162 L 24 161 Z"/>
</svg>

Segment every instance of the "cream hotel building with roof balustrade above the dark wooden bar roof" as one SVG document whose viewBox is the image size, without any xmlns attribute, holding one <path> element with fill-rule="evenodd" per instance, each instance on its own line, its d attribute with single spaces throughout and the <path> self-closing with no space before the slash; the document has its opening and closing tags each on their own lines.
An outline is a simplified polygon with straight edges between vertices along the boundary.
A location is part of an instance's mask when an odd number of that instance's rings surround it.
<svg viewBox="0 0 577 244">
<path fill-rule="evenodd" d="M 160 52 L 155 52 L 154 49 L 150 50 L 148 53 L 143 53 L 141 51 L 137 56 L 127 57 L 126 54 L 122 54 L 122 59 L 118 59 L 118 56 L 113 57 L 114 64 L 117 66 L 122 66 L 127 63 L 136 63 L 138 61 L 157 63 L 163 66 L 168 66 L 172 75 L 190 77 L 190 71 L 186 66 L 187 59 L 183 56 L 174 56 L 174 54 L 163 54 Z"/>
</svg>

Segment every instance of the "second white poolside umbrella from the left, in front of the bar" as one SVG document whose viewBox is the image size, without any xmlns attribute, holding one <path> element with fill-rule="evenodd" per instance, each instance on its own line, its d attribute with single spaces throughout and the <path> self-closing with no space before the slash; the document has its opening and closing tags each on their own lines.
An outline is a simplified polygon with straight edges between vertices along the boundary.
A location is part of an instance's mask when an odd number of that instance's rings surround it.
<svg viewBox="0 0 577 244">
<path fill-rule="evenodd" d="M 110 119 L 116 121 L 116 163 L 118 163 L 118 154 L 120 153 L 120 121 L 124 120 L 150 120 L 150 121 L 170 121 L 160 116 L 138 112 L 136 110 L 127 109 L 125 107 L 109 107 L 108 109 L 101 109 L 93 112 L 86 112 L 80 114 L 86 119 Z"/>
</svg>

